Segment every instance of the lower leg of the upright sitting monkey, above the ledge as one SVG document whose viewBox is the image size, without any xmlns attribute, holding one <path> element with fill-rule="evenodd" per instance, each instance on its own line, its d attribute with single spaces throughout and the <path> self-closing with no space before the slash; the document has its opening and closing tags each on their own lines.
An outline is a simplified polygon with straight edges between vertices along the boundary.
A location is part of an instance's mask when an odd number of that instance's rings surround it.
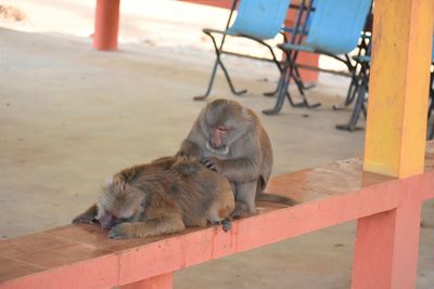
<svg viewBox="0 0 434 289">
<path fill-rule="evenodd" d="M 257 212 L 255 205 L 257 181 L 237 183 L 235 210 L 232 216 L 245 216 Z"/>
</svg>

